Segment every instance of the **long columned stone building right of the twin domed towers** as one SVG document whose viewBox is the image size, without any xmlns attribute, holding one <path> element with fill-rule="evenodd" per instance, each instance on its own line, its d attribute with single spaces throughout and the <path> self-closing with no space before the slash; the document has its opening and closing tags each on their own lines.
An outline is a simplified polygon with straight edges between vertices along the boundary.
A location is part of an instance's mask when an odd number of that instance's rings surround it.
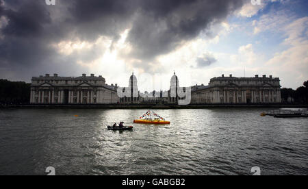
<svg viewBox="0 0 308 189">
<path fill-rule="evenodd" d="M 280 80 L 272 75 L 214 77 L 208 86 L 192 87 L 191 103 L 281 103 Z"/>
</svg>

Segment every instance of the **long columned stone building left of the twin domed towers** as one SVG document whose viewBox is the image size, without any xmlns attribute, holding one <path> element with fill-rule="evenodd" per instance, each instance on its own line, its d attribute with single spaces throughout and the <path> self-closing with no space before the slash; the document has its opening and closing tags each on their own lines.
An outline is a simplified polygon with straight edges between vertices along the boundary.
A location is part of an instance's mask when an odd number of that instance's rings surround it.
<svg viewBox="0 0 308 189">
<path fill-rule="evenodd" d="M 94 74 L 81 77 L 59 77 L 46 74 L 32 77 L 33 104 L 111 104 L 118 103 L 117 85 L 108 86 L 105 78 Z"/>
</svg>

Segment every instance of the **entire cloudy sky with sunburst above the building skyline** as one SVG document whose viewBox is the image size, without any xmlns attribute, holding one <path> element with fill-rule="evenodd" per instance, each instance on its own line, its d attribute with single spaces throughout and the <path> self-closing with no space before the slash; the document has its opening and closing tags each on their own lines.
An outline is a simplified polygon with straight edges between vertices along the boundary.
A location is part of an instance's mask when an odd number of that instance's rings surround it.
<svg viewBox="0 0 308 189">
<path fill-rule="evenodd" d="M 305 0 L 0 0 L 0 77 L 103 75 L 141 90 L 211 77 L 308 79 Z"/>
</svg>

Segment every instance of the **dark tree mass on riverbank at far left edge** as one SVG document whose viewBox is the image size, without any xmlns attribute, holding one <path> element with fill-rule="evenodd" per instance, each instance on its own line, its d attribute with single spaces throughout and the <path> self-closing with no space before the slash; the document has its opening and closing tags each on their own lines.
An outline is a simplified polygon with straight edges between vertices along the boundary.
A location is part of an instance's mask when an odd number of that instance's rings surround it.
<svg viewBox="0 0 308 189">
<path fill-rule="evenodd" d="M 29 103 L 31 84 L 0 79 L 0 105 Z"/>
</svg>

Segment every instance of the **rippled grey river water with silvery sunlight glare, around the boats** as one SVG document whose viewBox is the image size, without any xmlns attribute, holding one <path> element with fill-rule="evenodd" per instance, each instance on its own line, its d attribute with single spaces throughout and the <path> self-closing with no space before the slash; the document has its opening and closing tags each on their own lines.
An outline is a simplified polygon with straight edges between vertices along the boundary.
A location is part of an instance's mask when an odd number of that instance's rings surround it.
<svg viewBox="0 0 308 189">
<path fill-rule="evenodd" d="M 171 125 L 132 123 L 146 111 L 0 110 L 0 175 L 308 174 L 308 118 L 157 110 Z M 107 131 L 114 121 L 134 129 Z"/>
</svg>

